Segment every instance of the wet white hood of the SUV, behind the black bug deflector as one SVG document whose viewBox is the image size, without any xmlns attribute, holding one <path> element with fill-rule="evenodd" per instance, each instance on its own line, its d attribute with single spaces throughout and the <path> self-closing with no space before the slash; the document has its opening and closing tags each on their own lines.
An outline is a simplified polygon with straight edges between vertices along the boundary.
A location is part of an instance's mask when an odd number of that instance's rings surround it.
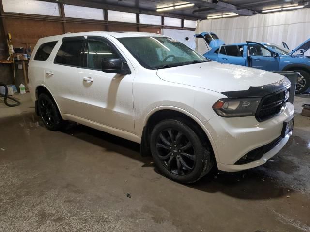
<svg viewBox="0 0 310 232">
<path fill-rule="evenodd" d="M 159 78 L 178 84 L 221 92 L 248 90 L 282 80 L 284 76 L 233 64 L 205 62 L 158 69 Z"/>
</svg>

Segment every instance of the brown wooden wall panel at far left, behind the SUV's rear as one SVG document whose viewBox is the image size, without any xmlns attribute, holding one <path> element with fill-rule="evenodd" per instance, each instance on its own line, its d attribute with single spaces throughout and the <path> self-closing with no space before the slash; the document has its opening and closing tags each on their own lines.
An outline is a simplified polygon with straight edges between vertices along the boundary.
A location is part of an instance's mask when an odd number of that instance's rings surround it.
<svg viewBox="0 0 310 232">
<path fill-rule="evenodd" d="M 42 37 L 63 34 L 62 22 L 6 18 L 6 23 L 15 47 L 25 47 L 23 43 L 29 43 L 33 48 Z"/>
</svg>

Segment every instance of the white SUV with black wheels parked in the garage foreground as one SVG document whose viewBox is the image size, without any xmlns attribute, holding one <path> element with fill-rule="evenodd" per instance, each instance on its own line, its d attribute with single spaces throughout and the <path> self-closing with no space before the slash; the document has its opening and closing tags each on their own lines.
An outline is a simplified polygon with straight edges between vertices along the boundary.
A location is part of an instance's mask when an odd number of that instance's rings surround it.
<svg viewBox="0 0 310 232">
<path fill-rule="evenodd" d="M 290 82 L 263 70 L 205 59 L 166 36 L 85 32 L 40 39 L 28 75 L 47 129 L 64 120 L 141 144 L 182 183 L 217 165 L 259 166 L 292 135 Z"/>
</svg>

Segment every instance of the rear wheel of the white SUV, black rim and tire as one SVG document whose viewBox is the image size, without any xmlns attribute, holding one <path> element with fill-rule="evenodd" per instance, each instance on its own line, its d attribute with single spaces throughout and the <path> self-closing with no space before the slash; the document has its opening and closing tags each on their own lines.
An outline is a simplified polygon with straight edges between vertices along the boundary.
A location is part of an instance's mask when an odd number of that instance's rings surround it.
<svg viewBox="0 0 310 232">
<path fill-rule="evenodd" d="M 59 131 L 62 128 L 62 116 L 59 113 L 56 103 L 49 95 L 45 93 L 39 95 L 38 112 L 48 130 Z"/>
</svg>

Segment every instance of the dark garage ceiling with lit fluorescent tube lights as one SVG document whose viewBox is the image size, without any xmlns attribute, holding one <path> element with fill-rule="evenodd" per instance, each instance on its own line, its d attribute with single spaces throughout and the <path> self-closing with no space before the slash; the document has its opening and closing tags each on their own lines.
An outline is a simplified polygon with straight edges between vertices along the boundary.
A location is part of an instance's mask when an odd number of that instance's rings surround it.
<svg viewBox="0 0 310 232">
<path fill-rule="evenodd" d="M 146 11 L 154 11 L 159 7 L 169 7 L 184 3 L 193 3 L 193 6 L 182 9 L 171 9 L 161 13 L 206 19 L 207 16 L 218 14 L 237 13 L 242 15 L 260 14 L 262 10 L 283 6 L 310 7 L 310 0 L 89 0 L 88 2 L 103 3 L 114 6 L 129 7 Z"/>
</svg>

